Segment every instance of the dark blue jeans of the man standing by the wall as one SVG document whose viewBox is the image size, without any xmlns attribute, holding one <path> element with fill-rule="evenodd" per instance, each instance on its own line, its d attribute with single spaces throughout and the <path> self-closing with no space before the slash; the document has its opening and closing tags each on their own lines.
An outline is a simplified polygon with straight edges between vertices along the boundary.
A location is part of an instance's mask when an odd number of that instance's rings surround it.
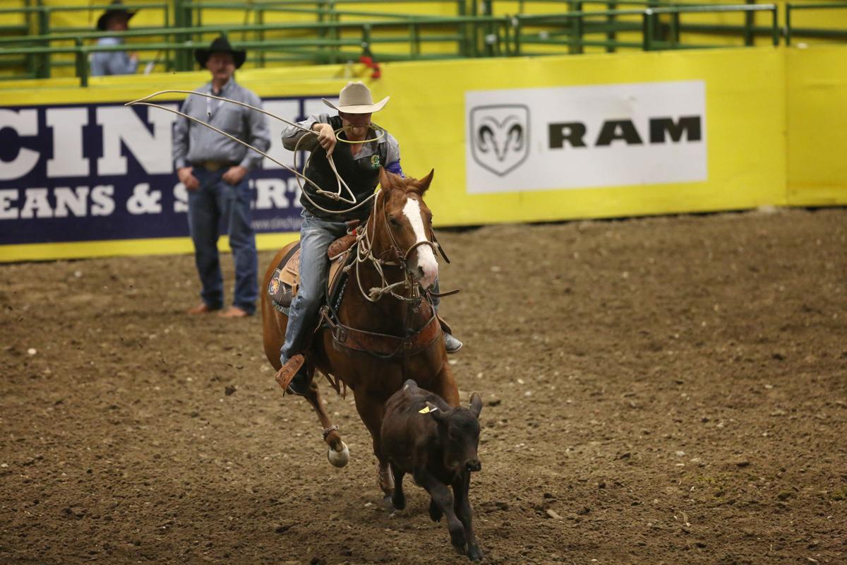
<svg viewBox="0 0 847 565">
<path fill-rule="evenodd" d="M 188 192 L 188 227 L 194 241 L 194 260 L 202 284 L 203 302 L 210 308 L 224 306 L 224 278 L 218 256 L 219 222 L 230 233 L 235 259 L 233 305 L 246 313 L 256 311 L 258 297 L 256 235 L 250 225 L 250 187 L 247 175 L 235 186 L 221 180 L 226 169 L 210 172 L 194 168 L 200 181 L 197 191 Z"/>
</svg>

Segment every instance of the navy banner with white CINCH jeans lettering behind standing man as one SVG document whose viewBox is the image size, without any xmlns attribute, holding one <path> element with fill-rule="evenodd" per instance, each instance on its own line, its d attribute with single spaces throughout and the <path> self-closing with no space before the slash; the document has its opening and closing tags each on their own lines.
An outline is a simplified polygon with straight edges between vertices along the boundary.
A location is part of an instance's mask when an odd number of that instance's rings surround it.
<svg viewBox="0 0 847 565">
<path fill-rule="evenodd" d="M 296 120 L 326 107 L 320 97 L 296 97 L 264 108 Z M 122 104 L 0 108 L 0 246 L 187 236 L 188 194 L 171 159 L 176 119 Z M 280 141 L 285 125 L 269 125 L 268 154 L 291 166 Z M 250 186 L 257 233 L 299 230 L 290 171 L 263 159 Z"/>
</svg>

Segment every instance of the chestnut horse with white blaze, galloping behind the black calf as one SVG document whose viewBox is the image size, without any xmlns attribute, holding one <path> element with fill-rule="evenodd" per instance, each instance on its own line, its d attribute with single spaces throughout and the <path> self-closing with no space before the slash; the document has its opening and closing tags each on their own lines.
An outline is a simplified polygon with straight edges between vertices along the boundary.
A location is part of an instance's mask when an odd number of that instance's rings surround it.
<svg viewBox="0 0 847 565">
<path fill-rule="evenodd" d="M 404 179 L 380 169 L 381 190 L 374 197 L 364 230 L 362 226 L 357 229 L 357 262 L 348 274 L 337 319 L 322 317 L 311 345 L 303 352 L 310 372 L 317 368 L 328 379 L 329 375 L 335 377 L 336 386 L 340 380 L 353 391 L 357 412 L 374 440 L 379 486 L 385 496 L 394 490 L 388 460 L 379 447 L 385 401 L 406 379 L 415 379 L 421 388 L 435 392 L 451 406 L 459 403 L 439 320 L 425 293 L 421 294 L 438 275 L 432 213 L 423 199 L 432 175 L 430 171 L 421 180 Z M 293 245 L 285 246 L 270 263 L 265 289 Z M 287 321 L 263 291 L 264 350 L 277 370 Z M 343 467 L 346 445 L 327 417 L 317 379 L 306 398 L 324 426 L 330 463 Z"/>
</svg>

